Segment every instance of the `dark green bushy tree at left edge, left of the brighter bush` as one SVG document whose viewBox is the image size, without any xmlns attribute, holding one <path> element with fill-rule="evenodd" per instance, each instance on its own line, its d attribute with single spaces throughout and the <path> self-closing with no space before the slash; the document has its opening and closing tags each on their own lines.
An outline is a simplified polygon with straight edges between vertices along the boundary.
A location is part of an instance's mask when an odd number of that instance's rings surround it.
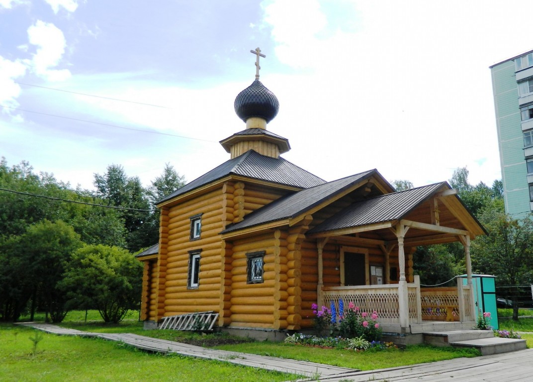
<svg viewBox="0 0 533 382">
<path fill-rule="evenodd" d="M 80 246 L 79 235 L 62 221 L 43 220 L 6 240 L 0 246 L 2 319 L 17 321 L 31 300 L 32 317 L 40 303 L 53 322 L 61 322 L 67 309 L 58 283 Z"/>
</svg>

